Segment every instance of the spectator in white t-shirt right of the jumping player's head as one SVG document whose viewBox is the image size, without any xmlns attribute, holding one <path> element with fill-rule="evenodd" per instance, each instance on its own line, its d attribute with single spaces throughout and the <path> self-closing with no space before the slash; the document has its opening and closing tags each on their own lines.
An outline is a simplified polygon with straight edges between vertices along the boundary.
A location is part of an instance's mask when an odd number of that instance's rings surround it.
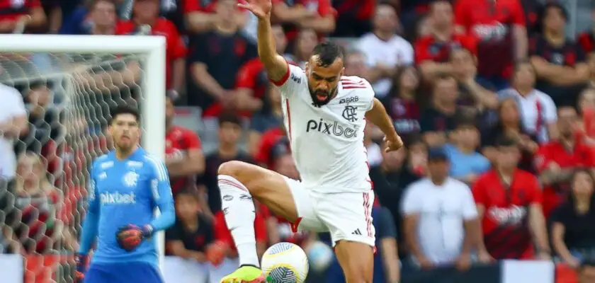
<svg viewBox="0 0 595 283">
<path fill-rule="evenodd" d="M 377 74 L 373 83 L 376 97 L 383 98 L 390 91 L 395 67 L 413 63 L 413 47 L 396 35 L 399 18 L 395 8 L 387 4 L 376 7 L 373 30 L 358 40 L 356 48 L 365 54 L 368 67 Z"/>
</svg>

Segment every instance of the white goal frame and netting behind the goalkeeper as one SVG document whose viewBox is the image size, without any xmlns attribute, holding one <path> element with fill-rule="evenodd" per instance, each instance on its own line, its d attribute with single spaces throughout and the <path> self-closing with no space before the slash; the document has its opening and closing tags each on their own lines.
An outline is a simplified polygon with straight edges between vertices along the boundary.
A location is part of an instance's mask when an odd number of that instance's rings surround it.
<svg viewBox="0 0 595 283">
<path fill-rule="evenodd" d="M 0 257 L 23 266 L 11 278 L 73 282 L 89 166 L 111 149 L 109 111 L 140 108 L 143 146 L 162 156 L 164 77 L 161 37 L 0 36 L 0 83 L 21 93 L 28 119 L 18 138 L 0 132 L 16 157 L 14 172 L 0 171 Z"/>
</svg>

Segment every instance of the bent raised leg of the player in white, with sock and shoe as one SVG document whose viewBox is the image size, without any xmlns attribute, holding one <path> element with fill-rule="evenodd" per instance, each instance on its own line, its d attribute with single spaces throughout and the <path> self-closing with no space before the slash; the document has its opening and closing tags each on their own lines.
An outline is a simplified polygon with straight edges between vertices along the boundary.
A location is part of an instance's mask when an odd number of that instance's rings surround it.
<svg viewBox="0 0 595 283">
<path fill-rule="evenodd" d="M 219 167 L 218 184 L 227 228 L 239 253 L 240 268 L 222 282 L 263 282 L 254 236 L 255 208 L 252 198 L 288 221 L 298 218 L 293 193 L 285 178 L 273 171 L 241 161 Z"/>
</svg>

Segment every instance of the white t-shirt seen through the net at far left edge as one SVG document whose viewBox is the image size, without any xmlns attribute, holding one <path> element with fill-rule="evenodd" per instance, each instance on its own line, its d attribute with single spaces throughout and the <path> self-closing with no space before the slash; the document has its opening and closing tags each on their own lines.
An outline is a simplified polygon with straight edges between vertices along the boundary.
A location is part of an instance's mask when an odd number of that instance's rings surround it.
<svg viewBox="0 0 595 283">
<path fill-rule="evenodd" d="M 0 83 L 0 125 L 15 117 L 27 115 L 23 96 L 15 88 Z M 16 175 L 14 140 L 0 134 L 0 178 L 12 179 Z"/>
</svg>

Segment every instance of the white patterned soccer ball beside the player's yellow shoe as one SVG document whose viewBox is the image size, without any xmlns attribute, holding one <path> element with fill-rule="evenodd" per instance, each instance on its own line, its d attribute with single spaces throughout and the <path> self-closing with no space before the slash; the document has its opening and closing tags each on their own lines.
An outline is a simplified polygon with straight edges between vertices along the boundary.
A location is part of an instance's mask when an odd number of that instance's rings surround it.
<svg viewBox="0 0 595 283">
<path fill-rule="evenodd" d="M 300 246 L 276 243 L 262 255 L 261 268 L 274 283 L 303 283 L 308 275 L 308 258 Z"/>
</svg>

